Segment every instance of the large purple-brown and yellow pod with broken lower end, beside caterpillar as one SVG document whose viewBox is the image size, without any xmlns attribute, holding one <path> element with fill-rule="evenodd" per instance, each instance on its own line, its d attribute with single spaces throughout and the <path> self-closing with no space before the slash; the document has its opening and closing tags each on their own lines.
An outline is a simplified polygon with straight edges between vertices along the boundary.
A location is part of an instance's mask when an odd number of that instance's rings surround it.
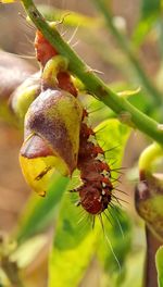
<svg viewBox="0 0 163 287">
<path fill-rule="evenodd" d="M 39 195 L 47 190 L 53 169 L 65 176 L 76 169 L 82 115 L 79 101 L 63 90 L 47 89 L 30 104 L 20 161 L 26 180 Z"/>
</svg>

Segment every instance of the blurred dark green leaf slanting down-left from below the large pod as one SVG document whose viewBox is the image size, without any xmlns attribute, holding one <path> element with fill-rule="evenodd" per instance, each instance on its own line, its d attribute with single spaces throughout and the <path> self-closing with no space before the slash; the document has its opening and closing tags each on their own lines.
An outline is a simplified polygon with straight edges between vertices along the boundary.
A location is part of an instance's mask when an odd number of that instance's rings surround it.
<svg viewBox="0 0 163 287">
<path fill-rule="evenodd" d="M 20 244 L 42 232 L 54 220 L 57 204 L 60 202 L 68 180 L 55 173 L 46 198 L 40 198 L 35 194 L 32 196 L 21 216 L 16 235 Z"/>
</svg>

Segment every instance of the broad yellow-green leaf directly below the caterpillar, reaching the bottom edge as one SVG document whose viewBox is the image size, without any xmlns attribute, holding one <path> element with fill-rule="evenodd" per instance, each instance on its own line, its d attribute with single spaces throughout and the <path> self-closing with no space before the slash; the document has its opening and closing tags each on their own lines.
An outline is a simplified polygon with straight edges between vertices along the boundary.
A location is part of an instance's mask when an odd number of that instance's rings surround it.
<svg viewBox="0 0 163 287">
<path fill-rule="evenodd" d="M 78 286 L 90 263 L 97 236 L 83 216 L 65 194 L 50 254 L 49 287 Z"/>
</svg>

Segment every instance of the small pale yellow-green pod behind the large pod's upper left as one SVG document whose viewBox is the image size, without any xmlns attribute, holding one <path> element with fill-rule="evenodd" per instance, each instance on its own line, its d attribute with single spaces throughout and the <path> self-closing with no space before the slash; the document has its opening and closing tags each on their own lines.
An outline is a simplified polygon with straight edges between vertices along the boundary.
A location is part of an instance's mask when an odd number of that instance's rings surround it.
<svg viewBox="0 0 163 287">
<path fill-rule="evenodd" d="M 25 114 L 30 103 L 40 93 L 40 73 L 28 77 L 11 95 L 10 107 L 21 123 L 24 122 Z"/>
</svg>

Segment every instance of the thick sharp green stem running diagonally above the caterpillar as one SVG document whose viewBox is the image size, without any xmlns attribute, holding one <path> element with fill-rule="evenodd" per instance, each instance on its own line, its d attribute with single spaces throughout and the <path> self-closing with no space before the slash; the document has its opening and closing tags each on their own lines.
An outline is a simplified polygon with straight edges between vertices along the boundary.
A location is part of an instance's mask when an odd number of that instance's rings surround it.
<svg viewBox="0 0 163 287">
<path fill-rule="evenodd" d="M 150 136 L 153 140 L 163 145 L 163 130 L 158 122 L 133 107 L 126 99 L 118 97 L 90 70 L 84 61 L 62 39 L 55 28 L 51 28 L 42 15 L 36 9 L 32 0 L 23 0 L 25 10 L 36 27 L 43 34 L 49 42 L 64 55 L 68 62 L 70 71 L 75 74 L 86 86 L 88 91 L 100 101 L 110 107 L 118 117 L 128 125 Z"/>
</svg>

